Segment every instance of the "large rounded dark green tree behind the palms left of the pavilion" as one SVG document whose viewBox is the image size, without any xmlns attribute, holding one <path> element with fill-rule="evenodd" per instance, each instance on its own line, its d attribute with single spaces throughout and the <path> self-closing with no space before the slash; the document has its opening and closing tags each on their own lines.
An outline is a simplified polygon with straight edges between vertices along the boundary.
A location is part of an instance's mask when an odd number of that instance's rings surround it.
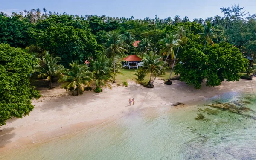
<svg viewBox="0 0 256 160">
<path fill-rule="evenodd" d="M 73 26 L 50 26 L 39 36 L 38 46 L 49 50 L 61 58 L 61 64 L 68 66 L 70 61 L 83 63 L 89 57 L 95 57 L 99 47 L 90 31 L 75 29 Z"/>
</svg>

